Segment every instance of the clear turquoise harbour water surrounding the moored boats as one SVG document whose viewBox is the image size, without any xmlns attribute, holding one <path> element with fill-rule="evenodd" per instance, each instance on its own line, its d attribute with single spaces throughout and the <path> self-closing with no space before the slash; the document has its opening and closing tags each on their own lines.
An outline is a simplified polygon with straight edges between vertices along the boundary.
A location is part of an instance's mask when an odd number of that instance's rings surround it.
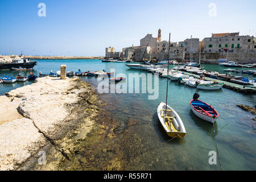
<svg viewBox="0 0 256 182">
<path fill-rule="evenodd" d="M 129 73 L 147 73 L 129 69 L 125 63 L 101 63 L 100 60 L 39 60 L 38 62 L 32 71 L 35 74 L 40 71 L 43 73 L 49 73 L 51 70 L 59 71 L 61 64 L 67 64 L 67 71 L 78 71 L 80 68 L 82 71 L 105 69 L 109 72 L 111 68 L 114 68 L 116 75 L 117 73 L 124 73 L 127 77 Z M 225 69 L 218 65 L 204 65 L 204 67 L 219 72 Z M 18 72 L 0 71 L 1 77 L 14 76 L 15 74 L 18 75 Z M 22 72 L 22 75 L 29 75 L 29 72 Z M 97 87 L 98 82 L 95 77 L 85 77 L 84 79 Z M 129 81 L 131 80 L 126 80 L 127 83 Z M 30 83 L 27 82 L 25 85 Z M 20 83 L 2 84 L 0 85 L 0 94 L 3 95 L 5 92 L 22 85 Z M 183 139 L 174 139 L 170 142 L 167 142 L 170 138 L 162 130 L 156 116 L 156 107 L 160 102 L 166 101 L 166 78 L 159 78 L 159 97 L 156 100 L 148 100 L 147 93 L 102 95 L 102 99 L 109 106 L 117 106 L 112 110 L 112 114 L 119 121 L 120 127 L 126 127 L 129 118 L 147 123 L 143 126 L 137 126 L 136 131 L 141 137 L 142 146 L 136 147 L 138 150 L 144 150 L 145 147 L 146 149 L 147 147 L 153 149 L 137 156 L 137 159 L 130 162 L 126 169 L 220 169 L 218 158 L 217 165 L 208 163 L 209 151 L 216 151 L 213 126 L 197 118 L 189 106 L 189 101 L 196 91 L 200 94 L 200 100 L 214 106 L 220 114 L 214 127 L 222 168 L 225 170 L 256 169 L 256 125 L 252 120 L 255 115 L 236 106 L 237 104 L 254 106 L 256 104 L 255 95 L 244 95 L 225 88 L 217 91 L 196 90 L 196 88 L 180 85 L 177 82 L 169 82 L 168 87 L 168 105 L 177 111 L 187 130 L 187 135 Z M 154 147 L 156 148 L 154 149 Z M 162 160 L 159 163 L 156 159 Z"/>
</svg>

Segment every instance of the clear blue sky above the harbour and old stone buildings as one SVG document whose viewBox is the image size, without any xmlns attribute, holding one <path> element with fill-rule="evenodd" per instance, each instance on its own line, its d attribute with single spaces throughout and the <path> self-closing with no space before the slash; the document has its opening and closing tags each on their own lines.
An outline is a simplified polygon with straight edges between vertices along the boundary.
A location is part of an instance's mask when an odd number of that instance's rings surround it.
<svg viewBox="0 0 256 182">
<path fill-rule="evenodd" d="M 46 5 L 46 16 L 39 16 Z M 256 36 L 255 0 L 0 0 L 0 55 L 104 56 L 147 34 L 171 42 L 240 32 Z"/>
</svg>

